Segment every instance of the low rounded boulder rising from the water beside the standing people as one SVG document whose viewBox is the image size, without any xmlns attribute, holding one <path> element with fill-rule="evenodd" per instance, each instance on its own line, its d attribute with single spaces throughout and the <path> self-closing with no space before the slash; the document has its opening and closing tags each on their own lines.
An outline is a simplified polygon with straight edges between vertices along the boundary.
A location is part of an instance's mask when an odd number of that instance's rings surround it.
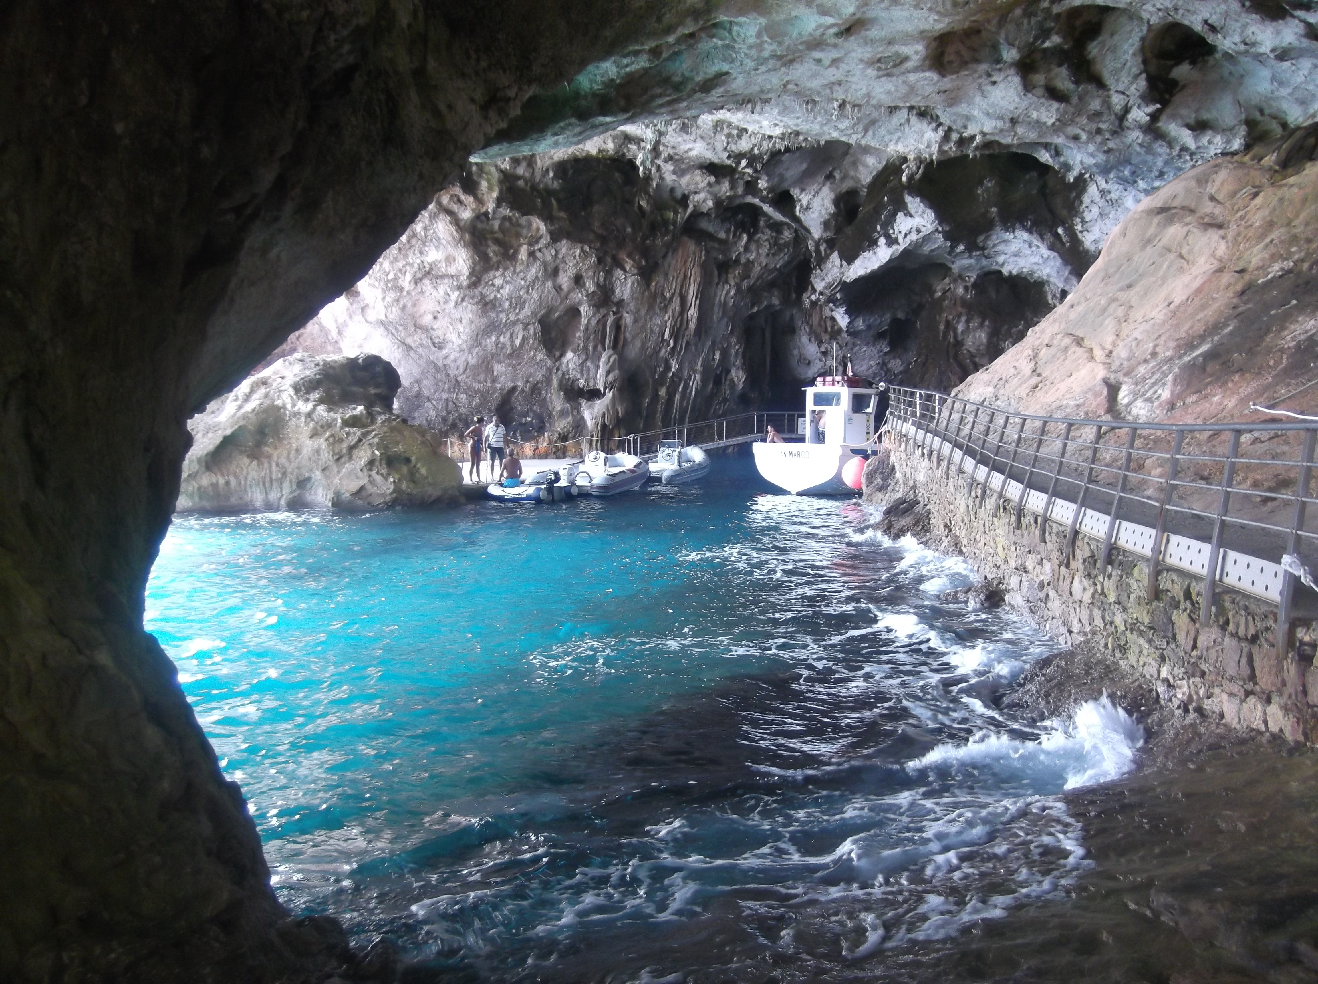
<svg viewBox="0 0 1318 984">
<path fill-rule="evenodd" d="M 439 439 L 393 412 L 380 356 L 289 356 L 190 422 L 181 512 L 431 506 L 459 501 Z"/>
</svg>

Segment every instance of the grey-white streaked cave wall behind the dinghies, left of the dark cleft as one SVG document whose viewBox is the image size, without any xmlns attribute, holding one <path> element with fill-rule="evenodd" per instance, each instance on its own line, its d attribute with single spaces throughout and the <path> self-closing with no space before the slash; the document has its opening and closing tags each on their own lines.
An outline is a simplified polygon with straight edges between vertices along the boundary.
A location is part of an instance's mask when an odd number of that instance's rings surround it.
<svg viewBox="0 0 1318 984">
<path fill-rule="evenodd" d="M 623 155 L 474 165 L 279 352 L 376 352 L 399 412 L 568 440 L 759 406 L 808 237 L 721 182 L 702 208 Z M 277 353 L 278 354 L 278 353 Z"/>
</svg>

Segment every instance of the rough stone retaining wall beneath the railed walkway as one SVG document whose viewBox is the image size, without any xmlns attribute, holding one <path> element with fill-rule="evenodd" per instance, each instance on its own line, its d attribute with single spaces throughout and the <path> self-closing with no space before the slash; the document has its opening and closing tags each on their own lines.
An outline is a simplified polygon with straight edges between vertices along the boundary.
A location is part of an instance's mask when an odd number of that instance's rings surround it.
<svg viewBox="0 0 1318 984">
<path fill-rule="evenodd" d="M 1007 605 L 1052 636 L 1108 649 L 1153 680 L 1164 703 L 1294 742 L 1318 740 L 1313 623 L 1296 623 L 1289 655 L 1278 659 L 1272 606 L 1219 589 L 1213 622 L 1201 626 L 1202 580 L 1161 568 L 1151 602 L 1143 557 L 1114 548 L 1101 570 L 1095 540 L 1077 536 L 1068 551 L 1068 528 L 1049 522 L 1040 543 L 1033 514 L 1023 512 L 1017 527 L 1012 505 L 990 491 L 981 506 L 981 487 L 967 494 L 965 474 L 945 477 L 899 444 L 884 451 L 892 468 L 866 470 L 866 499 L 919 497 L 932 545 L 963 555 L 1003 588 Z"/>
</svg>

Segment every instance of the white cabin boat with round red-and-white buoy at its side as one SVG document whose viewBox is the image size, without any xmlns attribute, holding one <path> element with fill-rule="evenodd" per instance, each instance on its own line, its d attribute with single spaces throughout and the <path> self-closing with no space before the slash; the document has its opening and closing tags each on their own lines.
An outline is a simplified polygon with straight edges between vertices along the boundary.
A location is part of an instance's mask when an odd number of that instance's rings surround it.
<svg viewBox="0 0 1318 984">
<path fill-rule="evenodd" d="M 793 495 L 855 495 L 842 469 L 873 447 L 879 390 L 853 375 L 805 387 L 805 441 L 751 445 L 755 468 Z"/>
</svg>

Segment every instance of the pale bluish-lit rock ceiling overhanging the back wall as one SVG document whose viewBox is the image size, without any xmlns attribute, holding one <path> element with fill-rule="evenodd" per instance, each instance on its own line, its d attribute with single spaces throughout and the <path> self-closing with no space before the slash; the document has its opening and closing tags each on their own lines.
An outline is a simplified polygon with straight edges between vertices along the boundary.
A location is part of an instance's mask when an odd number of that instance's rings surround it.
<svg viewBox="0 0 1318 984">
<path fill-rule="evenodd" d="M 721 13 L 531 96 L 477 157 L 708 117 L 907 157 L 1031 148 L 1148 191 L 1314 109 L 1311 0 L 730 3 Z"/>
</svg>

